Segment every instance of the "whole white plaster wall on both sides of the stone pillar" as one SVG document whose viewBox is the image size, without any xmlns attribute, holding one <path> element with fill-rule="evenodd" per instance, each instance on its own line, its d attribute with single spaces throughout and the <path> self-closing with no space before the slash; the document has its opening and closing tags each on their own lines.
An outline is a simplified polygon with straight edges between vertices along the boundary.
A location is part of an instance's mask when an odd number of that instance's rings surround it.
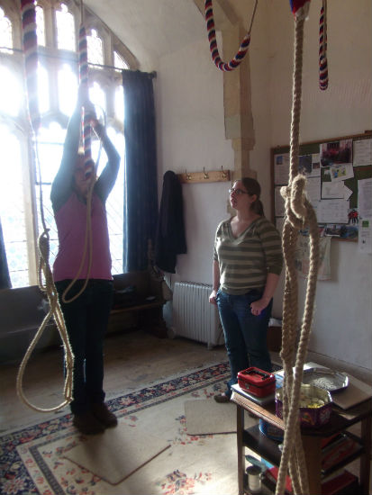
<svg viewBox="0 0 372 495">
<path fill-rule="evenodd" d="M 305 24 L 303 142 L 372 128 L 371 4 L 369 0 L 328 4 L 327 92 L 318 89 L 320 8 L 320 0 L 313 0 Z M 268 216 L 269 150 L 289 143 L 293 44 L 294 19 L 289 5 L 277 0 L 260 3 L 249 58 L 256 141 L 250 166 L 263 186 Z M 162 175 L 167 170 L 231 168 L 233 156 L 231 143 L 224 138 L 222 74 L 211 63 L 207 41 L 195 41 L 160 58 L 157 70 L 160 197 Z M 213 236 L 217 223 L 228 216 L 228 188 L 228 183 L 183 185 L 188 252 L 178 257 L 172 282 L 212 282 Z M 309 351 L 372 369 L 371 265 L 371 257 L 360 255 L 357 244 L 332 241 L 332 278 L 318 284 Z M 275 296 L 274 316 L 278 318 L 283 278 Z M 300 306 L 304 292 L 300 280 Z"/>
</svg>

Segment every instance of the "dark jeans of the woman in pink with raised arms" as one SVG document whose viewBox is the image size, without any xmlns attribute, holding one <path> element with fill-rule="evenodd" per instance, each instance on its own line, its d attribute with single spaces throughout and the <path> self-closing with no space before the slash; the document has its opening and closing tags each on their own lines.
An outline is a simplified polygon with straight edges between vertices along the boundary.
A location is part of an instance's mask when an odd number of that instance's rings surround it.
<svg viewBox="0 0 372 495">
<path fill-rule="evenodd" d="M 56 288 L 75 358 L 70 408 L 72 413 L 81 414 L 89 410 L 91 403 L 104 401 L 104 333 L 113 304 L 113 282 L 91 279 L 84 293 L 64 303 L 62 293 L 70 282 L 56 282 Z M 78 280 L 66 299 L 77 294 L 83 284 Z"/>
</svg>

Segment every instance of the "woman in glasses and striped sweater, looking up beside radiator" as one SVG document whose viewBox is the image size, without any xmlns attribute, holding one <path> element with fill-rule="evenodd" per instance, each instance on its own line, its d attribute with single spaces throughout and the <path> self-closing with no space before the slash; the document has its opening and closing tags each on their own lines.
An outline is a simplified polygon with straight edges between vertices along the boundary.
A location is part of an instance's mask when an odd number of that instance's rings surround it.
<svg viewBox="0 0 372 495">
<path fill-rule="evenodd" d="M 215 235 L 209 302 L 218 307 L 231 367 L 226 392 L 214 396 L 218 402 L 230 401 L 231 385 L 241 370 L 272 370 L 268 320 L 283 254 L 280 235 L 264 216 L 260 192 L 255 179 L 235 181 L 230 203 L 236 216 L 223 220 Z"/>
</svg>

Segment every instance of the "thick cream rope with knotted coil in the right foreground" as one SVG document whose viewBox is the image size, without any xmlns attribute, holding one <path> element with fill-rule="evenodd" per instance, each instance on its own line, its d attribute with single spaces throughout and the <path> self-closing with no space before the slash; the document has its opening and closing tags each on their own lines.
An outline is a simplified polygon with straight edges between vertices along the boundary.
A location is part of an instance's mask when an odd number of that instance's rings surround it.
<svg viewBox="0 0 372 495">
<path fill-rule="evenodd" d="M 295 62 L 290 139 L 290 174 L 289 184 L 281 189 L 281 193 L 286 201 L 286 220 L 282 240 L 286 265 L 286 283 L 283 301 L 282 350 L 280 353 L 284 368 L 283 419 L 285 428 L 276 493 L 284 493 L 286 474 L 289 473 L 293 483 L 294 493 L 308 495 L 310 493 L 309 480 L 301 439 L 298 410 L 304 362 L 313 322 L 313 305 L 319 265 L 319 229 L 313 207 L 304 194 L 305 177 L 298 174 L 304 20 L 310 1 L 306 4 L 304 2 L 301 4 L 300 8 L 293 8 L 295 14 Z M 309 228 L 310 268 L 304 302 L 304 316 L 296 350 L 298 285 L 295 269 L 295 247 L 299 230 L 304 229 L 306 226 Z M 294 366 L 295 373 L 293 370 Z"/>
</svg>

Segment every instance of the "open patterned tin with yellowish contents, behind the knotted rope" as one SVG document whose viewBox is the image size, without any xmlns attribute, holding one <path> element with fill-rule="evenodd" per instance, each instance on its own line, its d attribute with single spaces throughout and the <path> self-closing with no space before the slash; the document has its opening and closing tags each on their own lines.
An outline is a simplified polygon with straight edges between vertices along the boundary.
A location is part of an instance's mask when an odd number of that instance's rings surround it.
<svg viewBox="0 0 372 495">
<path fill-rule="evenodd" d="M 301 385 L 299 418 L 302 427 L 318 428 L 331 418 L 331 393 L 314 385 Z M 283 419 L 283 389 L 276 392 L 276 415 Z"/>
</svg>

